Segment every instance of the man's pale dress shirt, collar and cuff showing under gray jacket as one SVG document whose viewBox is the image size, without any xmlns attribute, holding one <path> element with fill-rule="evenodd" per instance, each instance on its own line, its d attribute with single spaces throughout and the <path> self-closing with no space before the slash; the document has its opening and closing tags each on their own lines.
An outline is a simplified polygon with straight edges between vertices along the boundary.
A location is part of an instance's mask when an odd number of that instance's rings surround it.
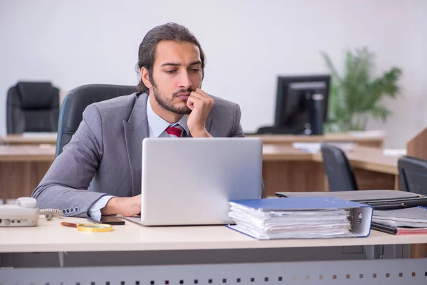
<svg viewBox="0 0 427 285">
<path fill-rule="evenodd" d="M 148 137 L 149 138 L 176 138 L 174 135 L 169 135 L 166 132 L 166 128 L 174 127 L 176 125 L 181 125 L 184 131 L 189 134 L 189 127 L 186 123 L 188 115 L 183 115 L 176 123 L 168 123 L 166 120 L 163 120 L 159 117 L 154 110 L 152 109 L 151 103 L 149 103 L 149 98 L 147 102 L 147 120 L 148 120 Z M 183 132 L 184 132 L 183 131 Z M 181 136 L 183 133 L 181 133 Z M 88 209 L 88 215 L 90 217 L 101 217 L 101 209 L 110 201 L 112 195 L 105 195 L 97 199 L 92 206 Z"/>
</svg>

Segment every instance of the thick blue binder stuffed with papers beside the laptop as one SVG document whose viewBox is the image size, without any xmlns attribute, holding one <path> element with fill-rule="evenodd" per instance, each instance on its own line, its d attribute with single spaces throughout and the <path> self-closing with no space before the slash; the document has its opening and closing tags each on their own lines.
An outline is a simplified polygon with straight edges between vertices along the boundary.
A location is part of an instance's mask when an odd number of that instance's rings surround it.
<svg viewBox="0 0 427 285">
<path fill-rule="evenodd" d="M 227 227 L 255 239 L 366 237 L 371 207 L 332 197 L 251 199 L 230 202 Z"/>
</svg>

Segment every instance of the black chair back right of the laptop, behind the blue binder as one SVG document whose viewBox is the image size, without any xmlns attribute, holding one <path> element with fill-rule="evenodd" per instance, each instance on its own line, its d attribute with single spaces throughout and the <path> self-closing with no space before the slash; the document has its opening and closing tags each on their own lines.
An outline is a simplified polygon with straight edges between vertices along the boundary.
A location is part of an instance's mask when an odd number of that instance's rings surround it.
<svg viewBox="0 0 427 285">
<path fill-rule="evenodd" d="M 328 144 L 322 144 L 321 151 L 330 191 L 358 190 L 347 155 L 339 147 Z"/>
</svg>

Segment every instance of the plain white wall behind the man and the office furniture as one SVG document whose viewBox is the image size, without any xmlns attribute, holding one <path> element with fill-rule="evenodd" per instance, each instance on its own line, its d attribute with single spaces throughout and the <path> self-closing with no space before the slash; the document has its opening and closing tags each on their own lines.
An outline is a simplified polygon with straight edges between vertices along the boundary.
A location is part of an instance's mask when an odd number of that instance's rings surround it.
<svg viewBox="0 0 427 285">
<path fill-rule="evenodd" d="M 369 128 L 384 128 L 388 147 L 404 147 L 427 125 L 426 15 L 425 0 L 1 0 L 0 110 L 19 80 L 53 81 L 63 90 L 137 83 L 144 34 L 176 21 L 205 50 L 204 90 L 239 103 L 246 132 L 273 124 L 278 74 L 325 73 L 320 51 L 341 63 L 344 48 L 368 46 L 377 73 L 394 65 L 404 70 L 404 98 L 386 101 L 394 117 Z"/>
</svg>

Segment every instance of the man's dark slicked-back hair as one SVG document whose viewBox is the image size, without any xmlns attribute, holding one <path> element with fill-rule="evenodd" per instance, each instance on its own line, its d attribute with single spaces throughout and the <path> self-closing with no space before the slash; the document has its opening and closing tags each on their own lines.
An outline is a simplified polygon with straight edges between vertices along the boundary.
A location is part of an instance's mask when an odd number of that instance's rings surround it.
<svg viewBox="0 0 427 285">
<path fill-rule="evenodd" d="M 176 41 L 178 43 L 189 42 L 194 43 L 200 51 L 200 60 L 201 60 L 201 74 L 202 78 L 204 77 L 204 66 L 206 63 L 206 58 L 204 51 L 200 46 L 199 41 L 196 37 L 189 31 L 188 28 L 181 26 L 176 23 L 168 23 L 161 26 L 152 28 L 142 40 L 139 45 L 138 50 L 138 71 L 141 71 L 141 68 L 146 68 L 149 75 L 149 81 L 155 86 L 153 81 L 153 64 L 156 55 L 157 43 L 160 41 Z M 137 90 L 139 93 L 148 93 L 147 86 L 144 85 L 142 80 L 139 80 L 137 85 Z"/>
</svg>

